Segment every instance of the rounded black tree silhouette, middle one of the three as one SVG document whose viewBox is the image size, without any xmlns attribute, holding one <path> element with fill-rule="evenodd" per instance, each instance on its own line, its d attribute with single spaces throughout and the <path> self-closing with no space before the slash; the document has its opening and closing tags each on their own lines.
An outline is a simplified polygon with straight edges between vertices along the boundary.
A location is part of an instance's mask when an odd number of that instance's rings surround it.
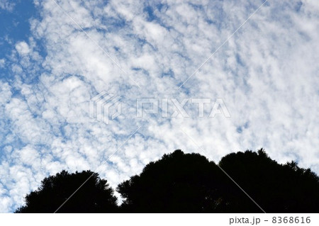
<svg viewBox="0 0 319 226">
<path fill-rule="evenodd" d="M 126 213 L 205 213 L 216 208 L 220 170 L 200 154 L 176 150 L 118 185 Z"/>
</svg>

